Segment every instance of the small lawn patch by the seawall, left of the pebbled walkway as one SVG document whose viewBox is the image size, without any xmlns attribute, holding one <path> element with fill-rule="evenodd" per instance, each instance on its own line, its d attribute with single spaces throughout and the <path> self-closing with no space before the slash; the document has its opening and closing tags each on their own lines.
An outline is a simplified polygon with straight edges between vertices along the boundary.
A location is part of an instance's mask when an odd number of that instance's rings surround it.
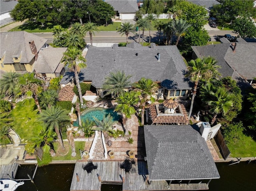
<svg viewBox="0 0 256 191">
<path fill-rule="evenodd" d="M 57 150 L 59 148 L 59 143 L 58 142 L 54 142 L 53 143 L 53 146 L 54 146 L 54 150 L 56 152 L 56 156 L 54 156 L 52 158 L 52 160 L 79 160 L 81 159 L 81 156 L 80 156 L 80 152 L 79 152 L 79 149 L 80 150 L 84 150 L 84 145 L 85 145 L 85 141 L 75 141 L 75 146 L 76 146 L 76 156 L 75 157 L 72 157 L 71 156 L 71 146 L 68 144 L 68 142 L 64 142 L 64 146 L 66 148 L 68 148 L 68 154 L 64 155 L 64 156 L 61 156 L 57 153 Z"/>
</svg>

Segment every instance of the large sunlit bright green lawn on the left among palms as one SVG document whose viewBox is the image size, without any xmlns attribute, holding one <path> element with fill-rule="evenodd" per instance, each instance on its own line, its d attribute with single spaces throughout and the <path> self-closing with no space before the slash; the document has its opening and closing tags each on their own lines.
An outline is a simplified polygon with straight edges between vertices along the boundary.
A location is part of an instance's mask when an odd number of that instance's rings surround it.
<svg viewBox="0 0 256 191">
<path fill-rule="evenodd" d="M 34 99 L 27 100 L 27 103 L 18 102 L 15 108 L 10 112 L 13 122 L 13 128 L 20 136 L 21 143 L 36 136 L 42 127 L 42 122 L 38 120 L 39 114 Z"/>
</svg>

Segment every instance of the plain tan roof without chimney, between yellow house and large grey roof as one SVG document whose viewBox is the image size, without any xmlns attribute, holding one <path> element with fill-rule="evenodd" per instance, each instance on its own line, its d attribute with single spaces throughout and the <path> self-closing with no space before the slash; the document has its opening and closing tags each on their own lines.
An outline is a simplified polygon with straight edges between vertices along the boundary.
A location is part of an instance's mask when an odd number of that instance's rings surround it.
<svg viewBox="0 0 256 191">
<path fill-rule="evenodd" d="M 38 59 L 34 62 L 36 73 L 60 73 L 64 64 L 60 63 L 63 53 L 67 48 L 48 48 L 41 49 L 38 53 Z"/>
</svg>

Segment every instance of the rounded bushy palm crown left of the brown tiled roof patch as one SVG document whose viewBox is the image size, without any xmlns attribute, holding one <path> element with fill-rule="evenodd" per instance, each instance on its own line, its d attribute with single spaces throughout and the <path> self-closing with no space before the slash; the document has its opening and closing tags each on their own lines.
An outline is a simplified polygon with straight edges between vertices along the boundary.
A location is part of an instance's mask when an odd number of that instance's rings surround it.
<svg viewBox="0 0 256 191">
<path fill-rule="evenodd" d="M 41 107 L 45 109 L 46 107 L 54 106 L 58 99 L 58 93 L 53 89 L 48 89 L 43 91 L 39 96 Z"/>
</svg>

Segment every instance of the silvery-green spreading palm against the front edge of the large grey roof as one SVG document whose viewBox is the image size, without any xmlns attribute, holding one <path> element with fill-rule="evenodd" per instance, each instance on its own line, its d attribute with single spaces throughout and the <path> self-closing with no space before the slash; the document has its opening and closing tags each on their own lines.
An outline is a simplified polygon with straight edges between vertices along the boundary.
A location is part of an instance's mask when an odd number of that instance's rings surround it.
<svg viewBox="0 0 256 191">
<path fill-rule="evenodd" d="M 105 78 L 103 83 L 103 89 L 108 90 L 106 95 L 110 95 L 111 92 L 116 93 L 117 96 L 124 92 L 124 89 L 131 87 L 131 82 L 129 81 L 131 75 L 126 76 L 124 71 L 117 71 L 116 73 L 111 72 L 110 76 Z"/>
</svg>

